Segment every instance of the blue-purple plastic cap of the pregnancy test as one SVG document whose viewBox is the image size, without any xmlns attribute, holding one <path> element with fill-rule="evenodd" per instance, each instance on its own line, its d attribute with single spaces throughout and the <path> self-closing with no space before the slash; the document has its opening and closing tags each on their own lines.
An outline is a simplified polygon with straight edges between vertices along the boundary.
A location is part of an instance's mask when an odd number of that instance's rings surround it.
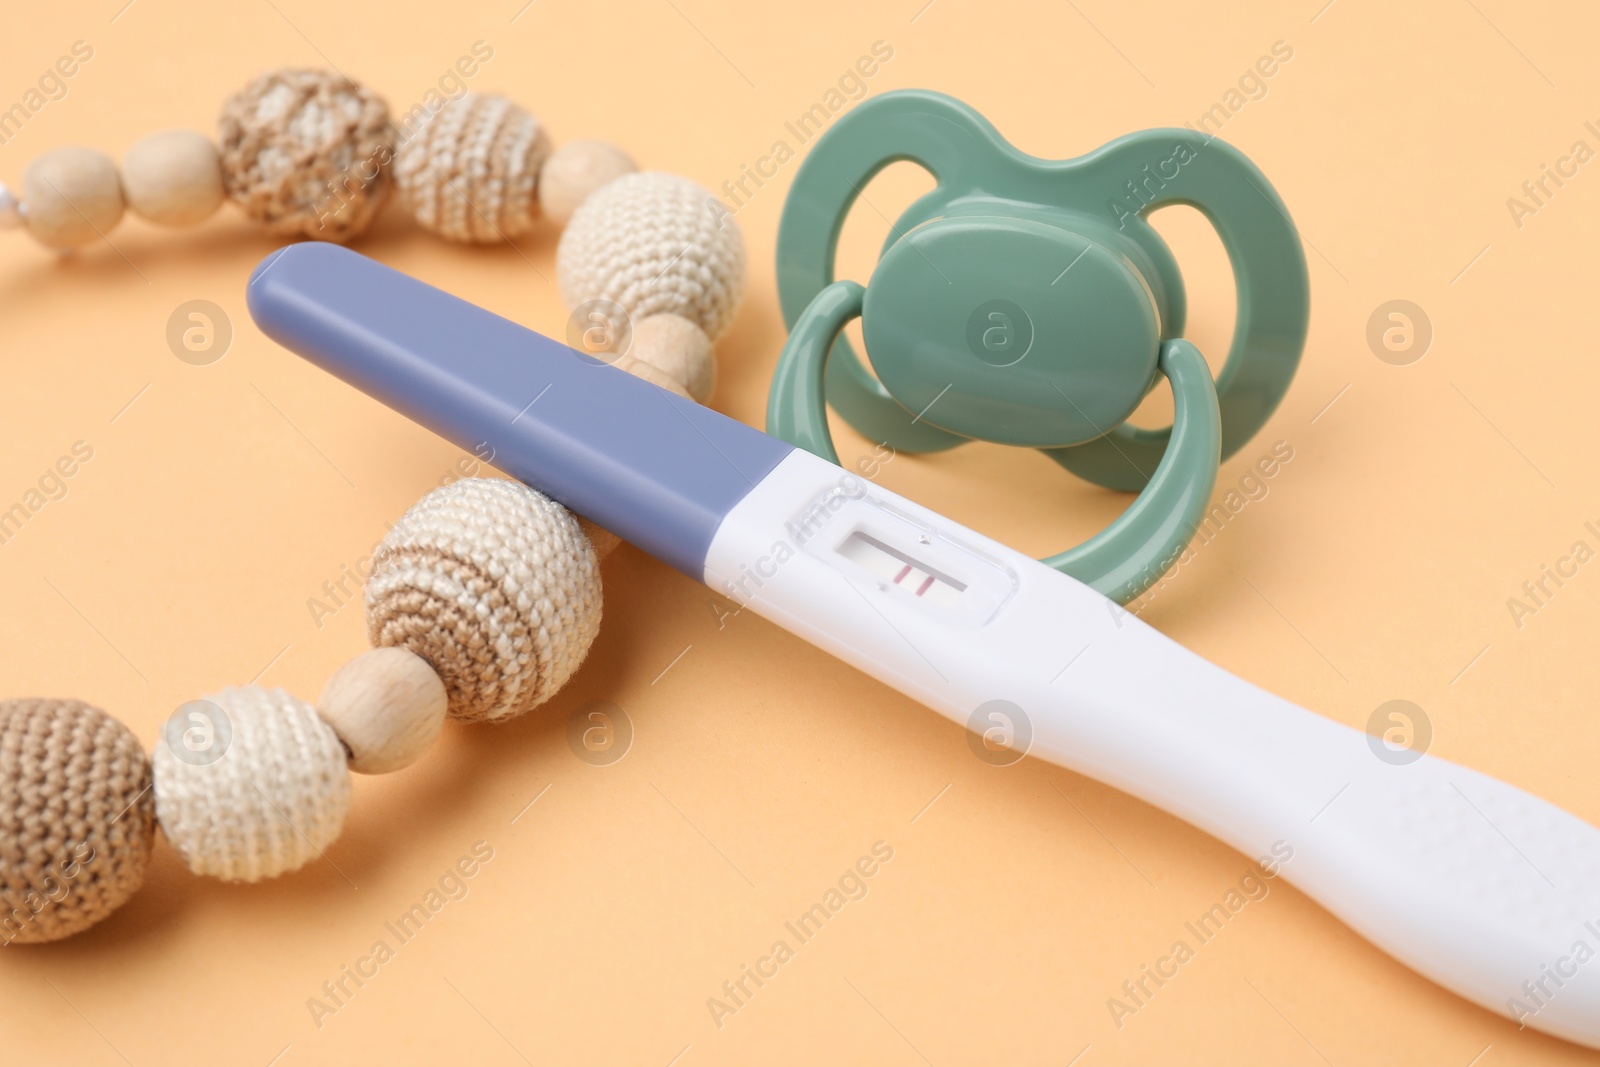
<svg viewBox="0 0 1600 1067">
<path fill-rule="evenodd" d="M 323 242 L 256 267 L 269 338 L 696 581 L 792 451 L 725 414 Z"/>
</svg>

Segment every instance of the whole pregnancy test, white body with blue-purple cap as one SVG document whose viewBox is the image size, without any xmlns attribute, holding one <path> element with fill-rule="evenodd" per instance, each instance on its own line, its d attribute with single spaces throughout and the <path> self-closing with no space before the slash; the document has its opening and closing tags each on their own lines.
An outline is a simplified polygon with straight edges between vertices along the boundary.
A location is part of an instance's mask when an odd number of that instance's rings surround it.
<svg viewBox="0 0 1600 1067">
<path fill-rule="evenodd" d="M 838 659 L 1258 857 L 1445 989 L 1600 1048 L 1600 830 L 1235 678 L 1082 582 L 346 248 L 261 330 Z M 1408 757 L 1413 753 L 1406 753 Z"/>
</svg>

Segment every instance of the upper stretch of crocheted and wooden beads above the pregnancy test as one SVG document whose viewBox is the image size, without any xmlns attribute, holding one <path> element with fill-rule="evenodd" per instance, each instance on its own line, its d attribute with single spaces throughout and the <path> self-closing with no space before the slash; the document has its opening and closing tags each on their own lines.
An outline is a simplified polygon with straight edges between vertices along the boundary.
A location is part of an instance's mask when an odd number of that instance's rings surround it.
<svg viewBox="0 0 1600 1067">
<path fill-rule="evenodd" d="M 560 290 L 584 326 L 571 339 L 704 403 L 712 344 L 744 290 L 744 243 L 702 187 L 637 171 L 605 141 L 552 147 L 544 125 L 504 96 L 438 96 L 395 120 L 342 74 L 286 67 L 222 104 L 216 142 L 166 130 L 134 142 L 122 166 L 94 149 L 45 152 L 24 171 L 21 198 L 0 184 L 0 229 L 26 227 L 70 253 L 109 242 L 126 211 L 189 227 L 232 200 L 270 234 L 349 242 L 390 190 L 422 229 L 469 245 L 509 242 L 549 218 L 568 227 Z"/>
</svg>

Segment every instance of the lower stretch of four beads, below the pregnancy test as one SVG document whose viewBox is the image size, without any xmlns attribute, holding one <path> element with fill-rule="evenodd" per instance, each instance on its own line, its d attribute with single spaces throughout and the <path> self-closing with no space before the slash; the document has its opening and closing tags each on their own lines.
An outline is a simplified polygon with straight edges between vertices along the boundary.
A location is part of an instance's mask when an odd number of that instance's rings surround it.
<svg viewBox="0 0 1600 1067">
<path fill-rule="evenodd" d="M 373 651 L 315 704 L 226 688 L 152 758 L 78 701 L 0 702 L 0 944 L 98 923 L 144 881 L 155 827 L 202 875 L 259 881 L 339 837 L 350 771 L 410 766 L 445 718 L 506 721 L 554 696 L 600 630 L 600 557 L 517 482 L 467 478 L 389 531 L 366 582 Z"/>
</svg>

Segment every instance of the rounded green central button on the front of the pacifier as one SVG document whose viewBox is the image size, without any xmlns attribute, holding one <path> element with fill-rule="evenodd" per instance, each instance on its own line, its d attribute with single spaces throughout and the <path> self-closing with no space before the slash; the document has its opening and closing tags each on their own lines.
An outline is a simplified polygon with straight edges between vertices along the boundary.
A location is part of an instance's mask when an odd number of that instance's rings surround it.
<svg viewBox="0 0 1600 1067">
<path fill-rule="evenodd" d="M 1155 299 L 1106 246 L 1037 219 L 933 219 L 878 261 L 861 315 L 883 386 L 918 421 L 1058 448 L 1106 435 L 1150 389 Z"/>
</svg>

